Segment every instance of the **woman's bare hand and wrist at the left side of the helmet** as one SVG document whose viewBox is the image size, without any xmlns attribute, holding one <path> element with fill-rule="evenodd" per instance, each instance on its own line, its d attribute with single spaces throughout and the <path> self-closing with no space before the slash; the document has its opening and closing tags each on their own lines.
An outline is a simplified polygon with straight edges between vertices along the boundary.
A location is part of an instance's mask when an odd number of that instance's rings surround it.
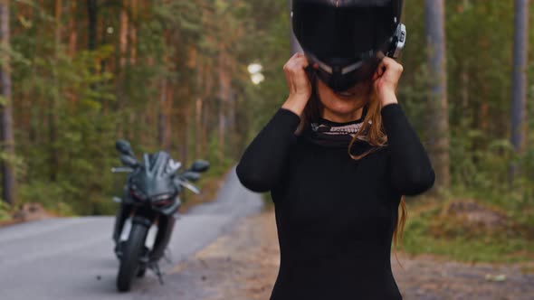
<svg viewBox="0 0 534 300">
<path fill-rule="evenodd" d="M 289 109 L 295 114 L 302 116 L 304 108 L 311 97 L 311 83 L 308 79 L 306 67 L 309 62 L 302 53 L 296 53 L 283 66 L 285 78 L 290 89 L 290 96 L 282 105 L 282 108 Z"/>
</svg>

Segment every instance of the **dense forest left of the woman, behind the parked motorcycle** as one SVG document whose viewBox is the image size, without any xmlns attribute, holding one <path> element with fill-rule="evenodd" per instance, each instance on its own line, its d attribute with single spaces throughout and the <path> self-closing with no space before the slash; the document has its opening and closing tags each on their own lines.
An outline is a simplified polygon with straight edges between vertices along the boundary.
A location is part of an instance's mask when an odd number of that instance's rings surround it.
<svg viewBox="0 0 534 300">
<path fill-rule="evenodd" d="M 264 98 L 246 67 L 262 58 L 262 43 L 272 44 L 281 7 L 4 3 L 14 151 L 6 147 L 2 158 L 16 183 L 7 202 L 41 202 L 60 214 L 110 213 L 122 180 L 110 173 L 119 164 L 116 139 L 128 139 L 137 153 L 167 150 L 185 164 L 205 158 L 220 176 L 261 122 L 256 108 Z M 253 11 L 263 19 L 253 20 Z"/>
</svg>

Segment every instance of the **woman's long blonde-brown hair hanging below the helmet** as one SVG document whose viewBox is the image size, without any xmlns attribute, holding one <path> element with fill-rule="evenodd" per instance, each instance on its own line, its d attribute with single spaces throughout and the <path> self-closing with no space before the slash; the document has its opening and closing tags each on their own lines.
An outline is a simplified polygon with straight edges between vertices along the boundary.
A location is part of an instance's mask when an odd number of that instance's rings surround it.
<svg viewBox="0 0 534 300">
<path fill-rule="evenodd" d="M 303 130 L 304 127 L 310 126 L 311 122 L 316 122 L 319 120 L 319 117 L 322 113 L 322 103 L 319 99 L 319 93 L 317 91 L 317 84 L 316 84 L 316 78 L 312 77 L 310 78 L 312 84 L 312 93 L 310 101 L 308 101 L 308 104 L 306 105 L 306 108 L 304 109 L 304 113 L 302 116 L 302 120 L 300 122 L 299 132 Z M 352 138 L 350 141 L 350 144 L 348 144 L 348 155 L 354 159 L 354 160 L 360 160 L 364 158 L 367 155 L 372 154 L 373 152 L 377 151 L 378 149 L 385 147 L 387 144 L 387 136 L 386 132 L 384 130 L 384 127 L 382 126 L 382 114 L 381 114 L 381 105 L 377 99 L 377 90 L 374 88 L 370 89 L 370 95 L 369 95 L 369 101 L 367 102 L 364 111 L 367 110 L 367 114 L 364 118 L 364 126 L 362 126 L 359 130 L 356 136 Z M 365 135 L 365 136 L 364 136 Z M 365 152 L 362 155 L 353 155 L 351 153 L 352 146 L 354 143 L 358 140 L 358 137 L 365 137 L 366 142 L 369 145 L 372 145 L 373 147 Z M 404 237 L 404 231 L 405 231 L 405 222 L 408 217 L 408 211 L 406 210 L 406 203 L 405 203 L 405 197 L 402 196 L 400 200 L 400 218 L 398 214 L 398 210 L 396 213 L 396 227 L 395 231 L 393 232 L 393 242 L 394 242 L 394 250 L 395 250 L 395 258 L 397 263 L 401 266 L 402 264 L 399 262 L 397 257 L 397 244 L 401 243 L 402 248 L 402 240 Z M 404 267 L 403 267 L 404 268 Z"/>
</svg>

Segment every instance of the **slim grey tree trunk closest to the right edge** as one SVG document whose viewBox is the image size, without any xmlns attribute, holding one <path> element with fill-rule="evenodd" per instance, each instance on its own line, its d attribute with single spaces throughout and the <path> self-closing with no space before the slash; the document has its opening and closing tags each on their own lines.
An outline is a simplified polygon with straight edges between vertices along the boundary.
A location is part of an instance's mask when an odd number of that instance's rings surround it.
<svg viewBox="0 0 534 300">
<path fill-rule="evenodd" d="M 510 142 L 517 154 L 525 149 L 527 111 L 527 55 L 529 42 L 529 0 L 515 1 L 515 33 L 511 91 Z M 519 173 L 517 164 L 510 164 L 510 183 Z"/>
</svg>

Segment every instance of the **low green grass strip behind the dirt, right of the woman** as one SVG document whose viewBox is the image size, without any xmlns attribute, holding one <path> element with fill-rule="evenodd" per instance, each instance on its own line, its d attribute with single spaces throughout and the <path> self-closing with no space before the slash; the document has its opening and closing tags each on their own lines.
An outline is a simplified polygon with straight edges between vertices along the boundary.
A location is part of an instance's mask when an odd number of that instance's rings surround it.
<svg viewBox="0 0 534 300">
<path fill-rule="evenodd" d="M 534 240 L 525 235 L 510 235 L 506 232 L 492 232 L 473 235 L 459 224 L 440 223 L 439 214 L 447 202 L 433 200 L 407 201 L 408 219 L 402 250 L 409 254 L 430 253 L 463 262 L 512 263 L 534 260 Z M 509 216 L 521 211 L 508 211 Z M 524 212 L 524 211 L 523 211 Z M 523 215 L 524 217 L 524 215 Z M 529 226 L 530 218 L 520 220 L 520 225 Z M 453 236 L 436 235 L 436 226 L 454 228 Z M 530 230 L 532 230 L 530 228 Z M 399 245 L 400 249 L 400 245 Z"/>
</svg>

